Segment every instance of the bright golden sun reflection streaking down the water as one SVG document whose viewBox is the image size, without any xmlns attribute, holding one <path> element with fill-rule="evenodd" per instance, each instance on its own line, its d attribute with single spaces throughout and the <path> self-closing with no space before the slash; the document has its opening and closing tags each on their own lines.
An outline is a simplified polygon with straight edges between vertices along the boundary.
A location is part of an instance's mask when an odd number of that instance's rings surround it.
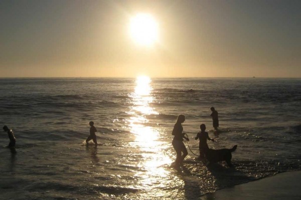
<svg viewBox="0 0 301 200">
<path fill-rule="evenodd" d="M 151 114 L 159 114 L 150 106 L 154 101 L 151 82 L 147 76 L 137 77 L 135 90 L 129 95 L 133 105 L 128 119 L 130 132 L 135 135 L 135 140 L 130 145 L 138 148 L 138 153 L 142 156 L 138 166 L 143 170 L 136 175 L 142 177 L 141 186 L 148 187 L 153 183 L 155 186 L 156 182 L 162 184 L 162 177 L 170 173 L 163 165 L 172 162 L 170 156 L 165 154 L 167 142 L 160 140 L 161 129 L 151 126 L 152 122 L 146 118 Z"/>
</svg>

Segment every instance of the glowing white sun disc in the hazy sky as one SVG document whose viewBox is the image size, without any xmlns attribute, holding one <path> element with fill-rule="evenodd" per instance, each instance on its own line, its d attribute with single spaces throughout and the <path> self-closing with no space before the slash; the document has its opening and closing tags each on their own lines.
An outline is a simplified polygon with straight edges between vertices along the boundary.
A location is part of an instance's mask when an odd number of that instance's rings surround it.
<svg viewBox="0 0 301 200">
<path fill-rule="evenodd" d="M 138 44 L 152 45 L 158 41 L 158 23 L 150 14 L 136 14 L 130 19 L 129 34 Z"/>
</svg>

